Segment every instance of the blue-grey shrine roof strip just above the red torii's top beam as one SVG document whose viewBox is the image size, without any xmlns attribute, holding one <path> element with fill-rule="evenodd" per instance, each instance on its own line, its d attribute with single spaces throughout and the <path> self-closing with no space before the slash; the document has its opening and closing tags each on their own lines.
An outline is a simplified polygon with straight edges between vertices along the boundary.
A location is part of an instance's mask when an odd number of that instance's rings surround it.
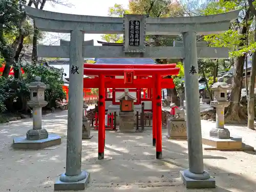
<svg viewBox="0 0 256 192">
<path fill-rule="evenodd" d="M 156 64 L 152 58 L 97 58 L 98 64 Z"/>
</svg>

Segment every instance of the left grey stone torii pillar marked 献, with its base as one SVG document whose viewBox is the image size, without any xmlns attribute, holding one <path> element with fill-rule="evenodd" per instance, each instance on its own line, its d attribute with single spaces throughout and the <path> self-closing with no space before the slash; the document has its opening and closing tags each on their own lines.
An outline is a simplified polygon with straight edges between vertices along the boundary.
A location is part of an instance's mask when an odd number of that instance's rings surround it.
<svg viewBox="0 0 256 192">
<path fill-rule="evenodd" d="M 83 190 L 90 178 L 90 173 L 85 170 L 81 171 L 83 38 L 82 31 L 71 31 L 66 173 L 61 174 L 55 182 L 54 190 Z"/>
</svg>

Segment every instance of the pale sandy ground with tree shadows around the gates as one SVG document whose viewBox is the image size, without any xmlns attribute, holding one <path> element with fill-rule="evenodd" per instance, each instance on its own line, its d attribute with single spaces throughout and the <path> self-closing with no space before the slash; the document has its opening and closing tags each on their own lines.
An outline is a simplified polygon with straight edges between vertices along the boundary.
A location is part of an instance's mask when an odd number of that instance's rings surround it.
<svg viewBox="0 0 256 192">
<path fill-rule="evenodd" d="M 12 138 L 25 135 L 32 119 L 0 125 L 0 191 L 49 192 L 55 179 L 65 172 L 67 111 L 48 114 L 42 124 L 49 133 L 59 134 L 62 143 L 46 150 L 13 150 Z M 202 121 L 208 134 L 214 123 Z M 255 145 L 255 131 L 230 127 L 243 141 Z M 242 131 L 240 131 L 241 129 Z M 179 170 L 188 168 L 187 141 L 168 140 L 163 129 L 163 158 L 155 159 L 151 130 L 144 133 L 106 132 L 105 159 L 97 159 L 97 131 L 91 140 L 82 141 L 82 169 L 91 173 L 85 191 L 255 191 L 254 152 L 203 151 L 205 169 L 216 179 L 216 189 L 188 190 L 179 178 Z M 246 144 L 247 144 L 246 143 Z M 10 189 L 10 190 L 9 190 Z"/>
</svg>

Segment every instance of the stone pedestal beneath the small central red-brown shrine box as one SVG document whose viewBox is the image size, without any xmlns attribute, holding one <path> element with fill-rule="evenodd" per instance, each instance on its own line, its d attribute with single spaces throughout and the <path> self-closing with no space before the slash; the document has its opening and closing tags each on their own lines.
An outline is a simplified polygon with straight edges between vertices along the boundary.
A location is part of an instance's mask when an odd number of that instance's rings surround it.
<svg viewBox="0 0 256 192">
<path fill-rule="evenodd" d="M 133 111 L 119 112 L 119 131 L 134 131 L 136 118 Z"/>
</svg>

